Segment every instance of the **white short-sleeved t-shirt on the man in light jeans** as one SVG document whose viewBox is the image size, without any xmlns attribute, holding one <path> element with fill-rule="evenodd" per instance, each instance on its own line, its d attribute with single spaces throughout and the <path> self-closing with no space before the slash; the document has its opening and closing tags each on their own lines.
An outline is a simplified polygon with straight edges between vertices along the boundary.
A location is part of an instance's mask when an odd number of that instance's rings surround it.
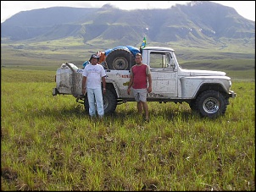
<svg viewBox="0 0 256 192">
<path fill-rule="evenodd" d="M 106 72 L 102 65 L 90 63 L 86 65 L 82 75 L 87 78 L 86 87 L 96 89 L 102 86 L 102 77 L 106 76 Z"/>
</svg>

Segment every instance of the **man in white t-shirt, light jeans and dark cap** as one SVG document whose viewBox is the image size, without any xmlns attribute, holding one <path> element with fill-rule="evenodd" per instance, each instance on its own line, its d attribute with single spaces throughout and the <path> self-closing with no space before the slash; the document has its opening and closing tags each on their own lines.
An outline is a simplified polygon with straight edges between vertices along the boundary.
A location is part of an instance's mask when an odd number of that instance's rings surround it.
<svg viewBox="0 0 256 192">
<path fill-rule="evenodd" d="M 82 80 L 82 94 L 85 95 L 87 91 L 87 97 L 89 102 L 89 115 L 91 118 L 96 117 L 96 108 L 97 115 L 99 118 L 104 116 L 104 107 L 103 107 L 103 94 L 106 92 L 106 73 L 103 69 L 103 66 L 97 64 L 98 56 L 92 54 L 89 64 L 86 65 L 83 70 L 83 80 Z M 103 91 L 102 91 L 103 83 Z"/>
</svg>

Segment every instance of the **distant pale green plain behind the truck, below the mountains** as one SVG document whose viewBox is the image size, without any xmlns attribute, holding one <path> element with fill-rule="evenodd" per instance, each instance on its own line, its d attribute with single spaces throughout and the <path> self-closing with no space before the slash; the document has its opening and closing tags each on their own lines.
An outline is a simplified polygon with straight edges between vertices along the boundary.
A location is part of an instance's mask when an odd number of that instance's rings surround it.
<svg viewBox="0 0 256 192">
<path fill-rule="evenodd" d="M 184 42 L 185 43 L 185 42 Z M 111 42 L 109 42 L 111 44 Z M 56 71 L 62 63 L 74 63 L 78 68 L 92 53 L 110 47 L 107 43 L 84 43 L 81 38 L 66 38 L 53 41 L 3 41 L 1 43 L 1 66 L 7 69 L 35 69 Z M 225 42 L 227 44 L 227 42 Z M 141 44 L 130 45 L 139 47 Z M 148 42 L 147 46 L 170 47 L 175 49 L 176 58 L 186 69 L 225 70 L 231 78 L 255 79 L 255 47 L 237 45 L 223 48 L 200 44 L 184 46 L 181 42 L 169 44 Z M 122 45 L 118 45 L 122 46 Z M 240 71 L 246 73 L 240 74 Z"/>
</svg>

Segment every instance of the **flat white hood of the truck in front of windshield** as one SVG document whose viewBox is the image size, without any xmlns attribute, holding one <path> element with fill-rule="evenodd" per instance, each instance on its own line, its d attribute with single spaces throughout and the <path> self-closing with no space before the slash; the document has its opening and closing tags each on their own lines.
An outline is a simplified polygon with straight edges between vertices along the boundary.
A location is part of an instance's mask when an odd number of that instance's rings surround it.
<svg viewBox="0 0 256 192">
<path fill-rule="evenodd" d="M 181 69 L 181 75 L 190 76 L 225 76 L 223 71 L 197 70 L 197 69 Z"/>
</svg>

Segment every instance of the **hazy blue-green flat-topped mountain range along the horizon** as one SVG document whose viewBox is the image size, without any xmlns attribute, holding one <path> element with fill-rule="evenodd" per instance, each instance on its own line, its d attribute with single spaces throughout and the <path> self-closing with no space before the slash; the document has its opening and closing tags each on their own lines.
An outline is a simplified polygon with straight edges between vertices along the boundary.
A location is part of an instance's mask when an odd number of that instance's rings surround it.
<svg viewBox="0 0 256 192">
<path fill-rule="evenodd" d="M 255 22 L 237 14 L 234 8 L 208 1 L 191 2 L 166 9 L 40 8 L 19 12 L 1 24 L 1 39 L 8 41 L 50 41 L 69 36 L 117 41 L 119 45 L 142 42 L 186 41 L 216 44 L 242 41 L 255 47 Z"/>
</svg>

